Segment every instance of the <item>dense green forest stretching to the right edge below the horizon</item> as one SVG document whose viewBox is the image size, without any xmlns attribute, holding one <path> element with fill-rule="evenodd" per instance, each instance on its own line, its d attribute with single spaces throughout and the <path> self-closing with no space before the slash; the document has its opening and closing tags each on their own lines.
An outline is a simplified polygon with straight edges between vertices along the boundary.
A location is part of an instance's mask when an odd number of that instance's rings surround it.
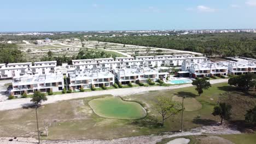
<svg viewBox="0 0 256 144">
<path fill-rule="evenodd" d="M 253 57 L 256 55 L 255 33 L 153 35 L 145 37 L 130 35 L 112 38 L 91 37 L 88 40 L 194 51 L 204 53 L 206 56 Z"/>
</svg>

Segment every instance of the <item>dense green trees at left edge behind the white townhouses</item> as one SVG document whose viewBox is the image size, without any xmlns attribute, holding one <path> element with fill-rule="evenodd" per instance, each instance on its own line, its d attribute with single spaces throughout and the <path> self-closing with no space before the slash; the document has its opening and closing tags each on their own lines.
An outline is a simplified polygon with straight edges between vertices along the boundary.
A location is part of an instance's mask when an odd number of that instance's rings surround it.
<svg viewBox="0 0 256 144">
<path fill-rule="evenodd" d="M 0 63 L 19 63 L 26 59 L 16 44 L 0 44 Z"/>
</svg>

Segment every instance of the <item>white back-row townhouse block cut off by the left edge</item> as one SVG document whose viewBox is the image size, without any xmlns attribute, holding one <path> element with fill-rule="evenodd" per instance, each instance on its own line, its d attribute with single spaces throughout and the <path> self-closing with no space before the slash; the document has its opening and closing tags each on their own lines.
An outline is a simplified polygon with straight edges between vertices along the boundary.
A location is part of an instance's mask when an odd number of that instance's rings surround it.
<svg viewBox="0 0 256 144">
<path fill-rule="evenodd" d="M 29 73 L 32 63 L 9 63 L 1 64 L 0 79 L 9 79 Z"/>
</svg>

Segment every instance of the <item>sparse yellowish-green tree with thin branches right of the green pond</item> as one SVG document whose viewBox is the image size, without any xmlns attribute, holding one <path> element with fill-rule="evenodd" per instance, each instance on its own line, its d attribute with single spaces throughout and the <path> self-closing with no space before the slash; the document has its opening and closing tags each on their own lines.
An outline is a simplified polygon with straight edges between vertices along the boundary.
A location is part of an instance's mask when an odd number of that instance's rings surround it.
<svg viewBox="0 0 256 144">
<path fill-rule="evenodd" d="M 156 97 L 154 109 L 161 115 L 161 125 L 164 125 L 167 118 L 177 115 L 182 111 L 182 105 L 181 103 L 172 101 L 169 97 L 158 96 Z"/>
</svg>

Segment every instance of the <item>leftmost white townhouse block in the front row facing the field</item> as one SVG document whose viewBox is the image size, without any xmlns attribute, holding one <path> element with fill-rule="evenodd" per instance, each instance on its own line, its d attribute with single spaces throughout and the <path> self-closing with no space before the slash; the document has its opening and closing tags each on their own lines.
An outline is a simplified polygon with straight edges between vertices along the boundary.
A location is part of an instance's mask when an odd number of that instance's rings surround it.
<svg viewBox="0 0 256 144">
<path fill-rule="evenodd" d="M 23 75 L 13 77 L 13 89 L 11 95 L 21 95 L 23 93 L 33 94 L 35 91 L 40 92 L 60 92 L 64 88 L 63 75 Z"/>
</svg>

